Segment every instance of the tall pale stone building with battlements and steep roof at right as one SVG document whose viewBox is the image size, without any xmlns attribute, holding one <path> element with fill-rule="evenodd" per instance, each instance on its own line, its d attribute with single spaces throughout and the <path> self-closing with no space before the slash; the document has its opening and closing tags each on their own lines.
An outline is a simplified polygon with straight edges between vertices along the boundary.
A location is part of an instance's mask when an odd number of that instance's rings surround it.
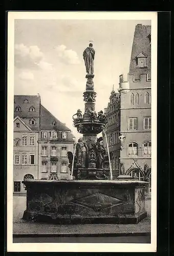
<svg viewBox="0 0 174 256">
<path fill-rule="evenodd" d="M 151 26 L 135 28 L 128 79 L 120 76 L 121 172 L 151 191 Z"/>
</svg>

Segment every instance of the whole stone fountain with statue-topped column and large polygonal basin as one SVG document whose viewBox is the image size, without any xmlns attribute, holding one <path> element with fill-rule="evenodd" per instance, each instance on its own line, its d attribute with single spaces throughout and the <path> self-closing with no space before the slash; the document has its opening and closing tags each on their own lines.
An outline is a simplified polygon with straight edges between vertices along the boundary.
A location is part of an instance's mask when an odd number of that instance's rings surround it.
<svg viewBox="0 0 174 256">
<path fill-rule="evenodd" d="M 137 180 L 113 180 L 111 157 L 103 146 L 107 123 L 103 111 L 95 111 L 93 45 L 83 52 L 86 67 L 84 114 L 73 115 L 74 126 L 82 137 L 68 152 L 71 180 L 25 180 L 27 209 L 23 219 L 75 223 L 138 223 L 146 218 L 145 186 Z M 106 140 L 107 141 L 107 140 Z"/>
</svg>

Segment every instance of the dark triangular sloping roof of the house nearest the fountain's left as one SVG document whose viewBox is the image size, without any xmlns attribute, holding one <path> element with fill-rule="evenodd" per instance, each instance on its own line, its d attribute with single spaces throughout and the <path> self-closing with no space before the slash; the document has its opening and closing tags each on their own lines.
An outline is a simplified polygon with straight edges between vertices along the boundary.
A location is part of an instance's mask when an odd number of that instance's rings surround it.
<svg viewBox="0 0 174 256">
<path fill-rule="evenodd" d="M 53 126 L 53 122 L 55 126 Z M 53 116 L 43 105 L 40 106 L 40 130 L 71 131 L 66 125 Z"/>
</svg>

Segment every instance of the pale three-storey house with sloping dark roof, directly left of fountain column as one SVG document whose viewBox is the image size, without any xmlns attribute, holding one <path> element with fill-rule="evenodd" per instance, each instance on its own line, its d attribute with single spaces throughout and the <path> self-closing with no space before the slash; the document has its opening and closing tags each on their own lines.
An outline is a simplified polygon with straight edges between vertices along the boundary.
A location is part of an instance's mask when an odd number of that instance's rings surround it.
<svg viewBox="0 0 174 256">
<path fill-rule="evenodd" d="M 44 106 L 40 110 L 39 179 L 69 179 L 67 153 L 73 152 L 71 130 L 57 120 Z"/>
</svg>

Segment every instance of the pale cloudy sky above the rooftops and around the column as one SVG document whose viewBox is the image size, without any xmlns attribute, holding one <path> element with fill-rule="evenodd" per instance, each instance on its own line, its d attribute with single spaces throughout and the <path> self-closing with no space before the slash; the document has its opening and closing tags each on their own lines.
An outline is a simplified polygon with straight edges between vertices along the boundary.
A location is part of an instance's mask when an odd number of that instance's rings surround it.
<svg viewBox="0 0 174 256">
<path fill-rule="evenodd" d="M 150 20 L 16 19 L 14 22 L 14 94 L 36 95 L 78 139 L 72 116 L 84 113 L 86 72 L 83 51 L 95 49 L 96 112 L 106 108 L 119 76 L 127 79 L 137 24 Z"/>
</svg>

